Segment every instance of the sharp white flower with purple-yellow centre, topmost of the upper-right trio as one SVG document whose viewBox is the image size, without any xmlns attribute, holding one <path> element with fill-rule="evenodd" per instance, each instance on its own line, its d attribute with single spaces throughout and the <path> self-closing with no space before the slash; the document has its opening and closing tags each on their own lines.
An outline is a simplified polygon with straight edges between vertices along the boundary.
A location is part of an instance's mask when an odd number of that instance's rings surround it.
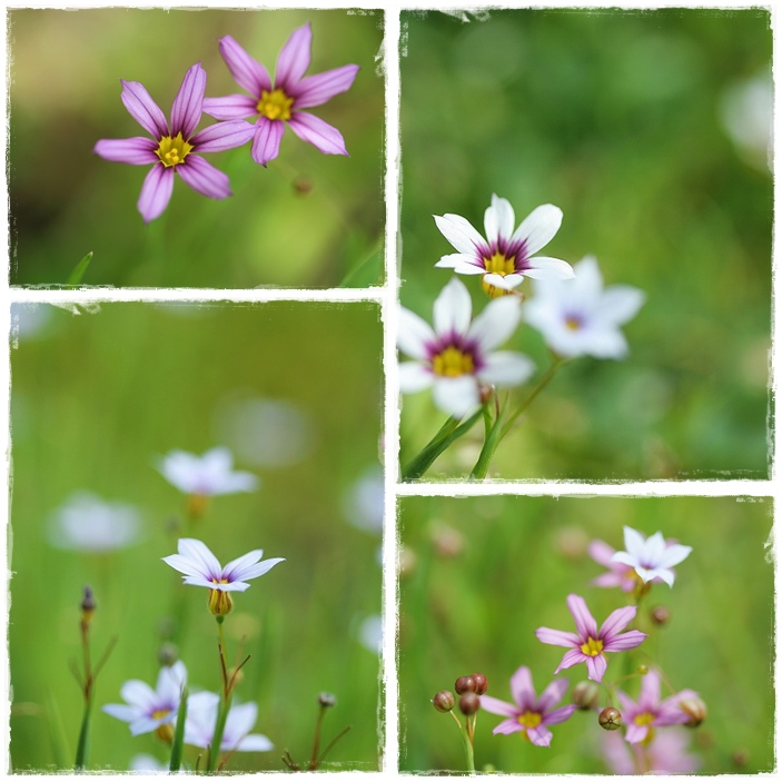
<svg viewBox="0 0 782 782">
<path fill-rule="evenodd" d="M 459 275 L 483 275 L 484 290 L 502 296 L 518 287 L 525 277 L 570 279 L 571 265 L 558 258 L 533 257 L 560 230 L 562 209 L 545 204 L 537 207 L 514 231 L 516 222 L 511 202 L 492 196 L 486 209 L 484 239 L 472 224 L 458 215 L 435 216 L 437 228 L 458 250 L 444 255 L 435 266 L 454 269 Z"/>
</svg>

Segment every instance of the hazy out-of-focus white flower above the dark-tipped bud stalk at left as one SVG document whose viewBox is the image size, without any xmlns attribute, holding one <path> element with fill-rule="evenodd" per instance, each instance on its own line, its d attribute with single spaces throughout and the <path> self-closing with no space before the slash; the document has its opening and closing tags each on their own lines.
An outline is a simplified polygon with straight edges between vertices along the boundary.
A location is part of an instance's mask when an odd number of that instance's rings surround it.
<svg viewBox="0 0 782 782">
<path fill-rule="evenodd" d="M 132 505 L 107 503 L 89 492 L 78 492 L 55 514 L 49 540 L 58 548 L 101 554 L 133 544 L 140 531 L 140 514 Z"/>
</svg>

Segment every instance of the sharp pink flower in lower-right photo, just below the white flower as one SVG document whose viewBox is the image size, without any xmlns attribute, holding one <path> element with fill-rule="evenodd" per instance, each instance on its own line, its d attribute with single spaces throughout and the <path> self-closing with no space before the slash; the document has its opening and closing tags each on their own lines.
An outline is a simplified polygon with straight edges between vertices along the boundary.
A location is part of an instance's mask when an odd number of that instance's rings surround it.
<svg viewBox="0 0 782 782">
<path fill-rule="evenodd" d="M 551 630 L 538 627 L 535 635 L 544 644 L 554 646 L 571 646 L 570 652 L 565 652 L 562 662 L 554 673 L 560 673 L 565 669 L 586 663 L 588 677 L 595 682 L 603 681 L 603 674 L 608 663 L 604 656 L 605 652 L 624 652 L 635 649 L 646 637 L 646 633 L 637 630 L 622 631 L 635 618 L 635 606 L 617 608 L 603 622 L 603 626 L 597 630 L 597 622 L 586 607 L 586 601 L 578 595 L 567 595 L 567 607 L 575 620 L 576 632 L 567 633 L 564 630 Z"/>
</svg>

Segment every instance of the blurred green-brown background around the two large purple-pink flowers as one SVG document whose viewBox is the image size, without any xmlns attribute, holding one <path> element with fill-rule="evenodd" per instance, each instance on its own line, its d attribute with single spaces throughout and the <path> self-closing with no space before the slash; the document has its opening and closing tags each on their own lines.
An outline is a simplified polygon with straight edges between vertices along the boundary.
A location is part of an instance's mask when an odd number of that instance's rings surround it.
<svg viewBox="0 0 782 782">
<path fill-rule="evenodd" d="M 136 209 L 147 169 L 93 155 L 101 138 L 142 136 L 120 100 L 140 81 L 167 117 L 200 61 L 207 96 L 241 92 L 218 50 L 230 34 L 274 75 L 295 28 L 313 24 L 308 75 L 356 63 L 353 88 L 313 113 L 350 157 L 289 129 L 268 170 L 250 147 L 205 156 L 229 175 L 220 201 L 177 181 L 162 217 Z M 384 80 L 380 11 L 9 11 L 11 283 L 62 284 L 88 251 L 85 285 L 253 288 L 382 283 Z M 204 117 L 200 127 L 214 120 Z"/>
</svg>

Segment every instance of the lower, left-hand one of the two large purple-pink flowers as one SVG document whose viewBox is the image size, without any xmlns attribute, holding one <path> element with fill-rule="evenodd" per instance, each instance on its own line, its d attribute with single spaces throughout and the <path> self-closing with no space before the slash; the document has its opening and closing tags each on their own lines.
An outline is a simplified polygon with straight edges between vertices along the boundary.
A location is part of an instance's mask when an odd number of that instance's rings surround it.
<svg viewBox="0 0 782 782">
<path fill-rule="evenodd" d="M 197 62 L 185 75 L 174 99 L 171 122 L 152 100 L 143 85 L 122 81 L 122 102 L 130 116 L 152 137 L 101 139 L 95 151 L 106 160 L 147 166 L 152 169 L 143 180 L 138 210 L 145 222 L 165 211 L 174 189 L 174 174 L 179 174 L 196 192 L 208 198 L 231 195 L 228 177 L 197 152 L 221 152 L 240 147 L 253 138 L 254 128 L 244 120 L 219 122 L 194 136 L 201 119 L 207 75 Z"/>
</svg>

